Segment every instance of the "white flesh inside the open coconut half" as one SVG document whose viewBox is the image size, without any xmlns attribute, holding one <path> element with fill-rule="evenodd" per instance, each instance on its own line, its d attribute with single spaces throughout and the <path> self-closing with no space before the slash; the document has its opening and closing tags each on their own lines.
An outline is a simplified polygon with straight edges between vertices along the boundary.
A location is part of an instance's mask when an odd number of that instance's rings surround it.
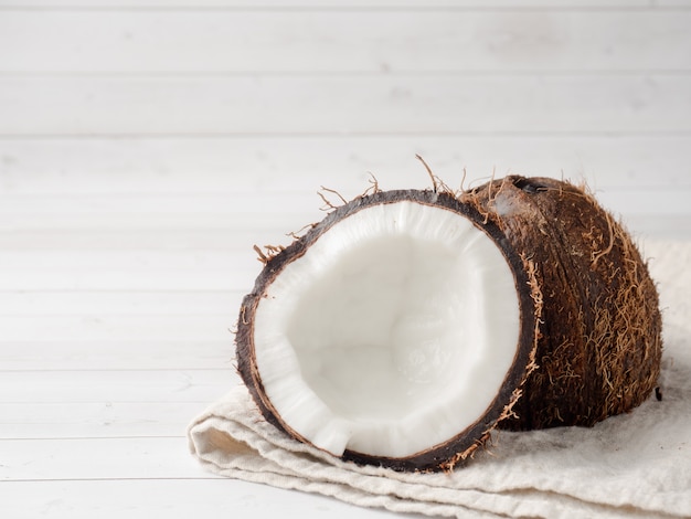
<svg viewBox="0 0 691 519">
<path fill-rule="evenodd" d="M 344 218 L 259 299 L 254 348 L 280 420 L 336 456 L 407 457 L 463 433 L 515 357 L 519 299 L 497 244 L 411 201 Z"/>
</svg>

